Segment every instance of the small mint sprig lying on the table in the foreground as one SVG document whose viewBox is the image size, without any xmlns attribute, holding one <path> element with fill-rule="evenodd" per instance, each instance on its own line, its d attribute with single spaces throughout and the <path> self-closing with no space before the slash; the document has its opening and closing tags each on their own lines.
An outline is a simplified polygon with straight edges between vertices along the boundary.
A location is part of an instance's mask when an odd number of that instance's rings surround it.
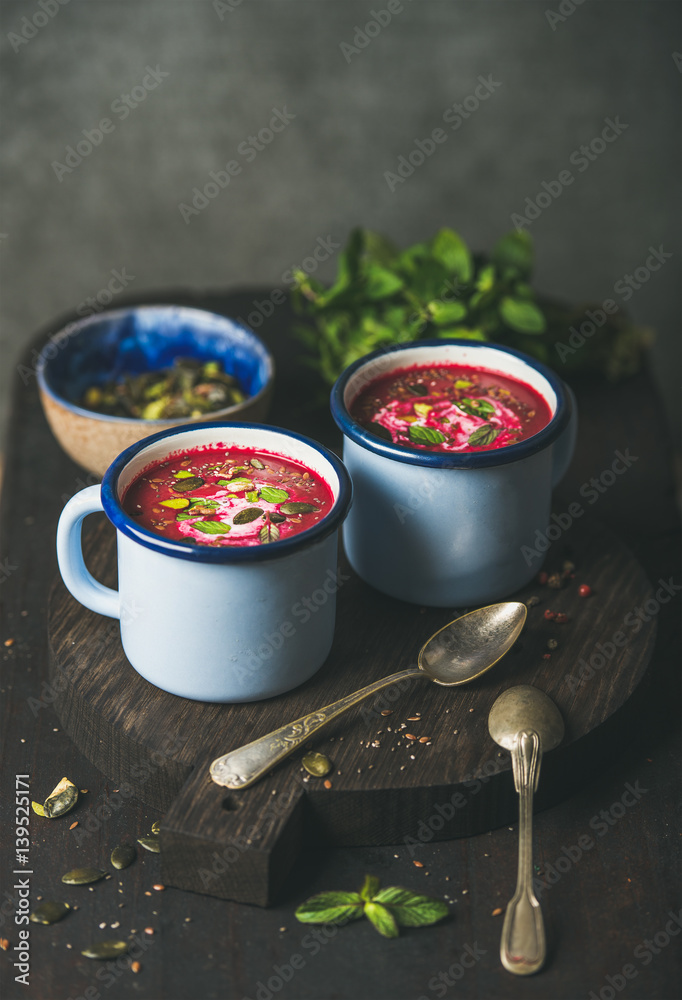
<svg viewBox="0 0 682 1000">
<path fill-rule="evenodd" d="M 450 912 L 446 903 L 400 886 L 380 888 L 376 875 L 365 875 L 359 892 L 321 892 L 296 910 L 303 924 L 345 924 L 365 916 L 384 937 L 398 937 L 400 927 L 425 927 Z"/>
</svg>

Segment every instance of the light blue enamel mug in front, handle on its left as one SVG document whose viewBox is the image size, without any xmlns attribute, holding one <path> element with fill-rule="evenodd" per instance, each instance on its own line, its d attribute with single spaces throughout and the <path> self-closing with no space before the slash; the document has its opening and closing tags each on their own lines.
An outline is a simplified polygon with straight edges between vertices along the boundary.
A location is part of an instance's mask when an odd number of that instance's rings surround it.
<svg viewBox="0 0 682 1000">
<path fill-rule="evenodd" d="M 125 512 L 126 488 L 150 465 L 222 445 L 300 462 L 331 488 L 330 511 L 288 538 L 221 548 L 164 538 Z M 309 438 L 260 424 L 187 424 L 132 445 L 101 487 L 69 500 L 57 528 L 59 570 L 77 601 L 120 619 L 123 650 L 152 684 L 199 701 L 270 698 L 308 680 L 331 649 L 338 530 L 351 496 L 343 464 Z M 117 591 L 83 562 L 82 521 L 96 511 L 116 528 Z"/>
</svg>

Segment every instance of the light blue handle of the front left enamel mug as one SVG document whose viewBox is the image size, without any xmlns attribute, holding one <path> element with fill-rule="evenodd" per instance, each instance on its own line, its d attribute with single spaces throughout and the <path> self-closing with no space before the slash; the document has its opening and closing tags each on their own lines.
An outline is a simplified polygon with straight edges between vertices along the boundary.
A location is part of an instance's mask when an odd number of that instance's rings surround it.
<svg viewBox="0 0 682 1000">
<path fill-rule="evenodd" d="M 61 513 L 57 526 L 57 562 L 67 589 L 77 601 L 98 615 L 108 618 L 121 617 L 121 602 L 117 590 L 105 587 L 95 580 L 86 568 L 81 546 L 83 518 L 88 514 L 102 511 L 99 486 L 87 489 L 71 497 Z"/>
</svg>

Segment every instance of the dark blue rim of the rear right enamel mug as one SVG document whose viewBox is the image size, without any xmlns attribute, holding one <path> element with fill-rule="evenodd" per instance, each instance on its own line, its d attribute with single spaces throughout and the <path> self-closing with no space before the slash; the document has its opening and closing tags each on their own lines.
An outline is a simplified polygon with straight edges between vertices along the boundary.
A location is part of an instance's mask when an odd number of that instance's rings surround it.
<svg viewBox="0 0 682 1000">
<path fill-rule="evenodd" d="M 532 437 L 526 438 L 524 441 L 519 441 L 518 444 L 506 445 L 504 448 L 492 449 L 491 451 L 462 453 L 452 451 L 418 451 L 406 445 L 396 445 L 390 441 L 384 441 L 382 438 L 377 437 L 376 434 L 365 430 L 361 424 L 351 417 L 343 400 L 346 386 L 353 375 L 369 362 L 374 361 L 375 358 L 400 354 L 401 351 L 414 351 L 423 348 L 428 353 L 431 348 L 446 347 L 448 345 L 473 349 L 487 348 L 501 354 L 510 354 L 523 361 L 530 368 L 533 368 L 547 380 L 556 395 L 557 405 L 552 419 L 537 434 L 533 434 Z M 425 358 L 424 364 L 428 365 L 429 363 L 428 358 Z M 433 363 L 437 364 L 438 362 Z M 448 361 L 447 363 L 450 364 L 451 362 Z M 504 374 L 504 372 L 501 372 L 501 374 Z M 390 458 L 394 461 L 403 462 L 406 465 L 421 465 L 433 469 L 485 469 L 495 465 L 507 465 L 511 462 L 518 462 L 523 458 L 534 455 L 538 451 L 542 451 L 543 448 L 556 441 L 562 431 L 568 426 L 572 403 L 569 393 L 566 391 L 562 380 L 556 372 L 543 365 L 542 362 L 531 358 L 528 354 L 517 351 L 513 347 L 502 347 L 500 344 L 485 341 L 444 338 L 442 340 L 417 340 L 406 344 L 396 344 L 388 349 L 380 348 L 378 351 L 373 351 L 371 354 L 366 354 L 364 357 L 358 358 L 357 361 L 354 361 L 352 365 L 349 365 L 342 372 L 334 383 L 330 396 L 330 408 L 334 420 L 346 437 L 368 451 L 372 451 L 376 455 L 381 455 L 383 458 Z"/>
</svg>

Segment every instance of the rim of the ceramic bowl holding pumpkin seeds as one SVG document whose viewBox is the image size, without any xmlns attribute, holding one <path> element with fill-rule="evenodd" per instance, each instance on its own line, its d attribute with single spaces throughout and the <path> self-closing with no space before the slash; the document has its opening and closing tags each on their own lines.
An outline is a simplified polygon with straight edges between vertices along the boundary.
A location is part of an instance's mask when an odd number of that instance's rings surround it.
<svg viewBox="0 0 682 1000">
<path fill-rule="evenodd" d="M 84 329 L 95 323 L 97 320 L 102 320 L 104 318 L 116 318 L 119 316 L 130 315 L 133 312 L 146 312 L 147 310 L 157 310 L 157 309 L 168 309 L 174 312 L 180 313 L 199 313 L 203 316 L 213 316 L 223 322 L 230 323 L 232 326 L 236 327 L 242 333 L 246 334 L 250 338 L 257 348 L 263 353 L 264 361 L 267 366 L 267 378 L 265 383 L 258 392 L 249 396 L 247 399 L 241 401 L 241 403 L 233 403 L 232 406 L 223 407 L 221 410 L 213 410 L 210 414 L 202 413 L 201 417 L 159 417 L 154 420 L 145 419 L 144 417 L 116 417 L 108 413 L 97 413 L 95 410 L 88 410 L 85 406 L 79 406 L 78 403 L 73 403 L 71 400 L 66 399 L 60 393 L 58 393 L 48 382 L 47 371 L 49 369 L 50 361 L 52 358 L 47 358 L 44 355 L 45 348 L 49 344 L 59 342 L 58 338 L 60 335 L 66 335 L 67 339 L 75 337 L 82 333 Z M 272 391 L 273 382 L 275 379 L 275 360 L 272 356 L 267 345 L 261 338 L 254 333 L 254 331 L 248 327 L 244 326 L 243 323 L 239 323 L 237 320 L 232 319 L 230 316 L 225 316 L 223 313 L 212 312 L 210 309 L 198 309 L 195 306 L 182 306 L 173 305 L 172 302 L 158 302 L 158 303 L 145 303 L 140 306 L 121 306 L 119 309 L 103 309 L 98 313 L 91 313 L 89 316 L 82 316 L 81 318 L 74 320 L 71 323 L 67 323 L 65 326 L 61 327 L 56 333 L 51 334 L 45 344 L 43 344 L 38 354 L 38 360 L 36 361 L 36 376 L 38 381 L 38 387 L 41 393 L 48 396 L 53 402 L 57 403 L 65 410 L 76 414 L 80 417 L 85 417 L 91 420 L 100 420 L 103 423 L 112 423 L 114 425 L 118 424 L 120 427 L 125 425 L 131 426 L 142 426 L 147 425 L 149 427 L 180 427 L 182 424 L 186 424 L 193 420 L 200 421 L 202 419 L 219 419 L 220 417 L 227 417 L 232 413 L 240 413 L 260 400 L 262 400 L 267 393 Z"/>
</svg>

